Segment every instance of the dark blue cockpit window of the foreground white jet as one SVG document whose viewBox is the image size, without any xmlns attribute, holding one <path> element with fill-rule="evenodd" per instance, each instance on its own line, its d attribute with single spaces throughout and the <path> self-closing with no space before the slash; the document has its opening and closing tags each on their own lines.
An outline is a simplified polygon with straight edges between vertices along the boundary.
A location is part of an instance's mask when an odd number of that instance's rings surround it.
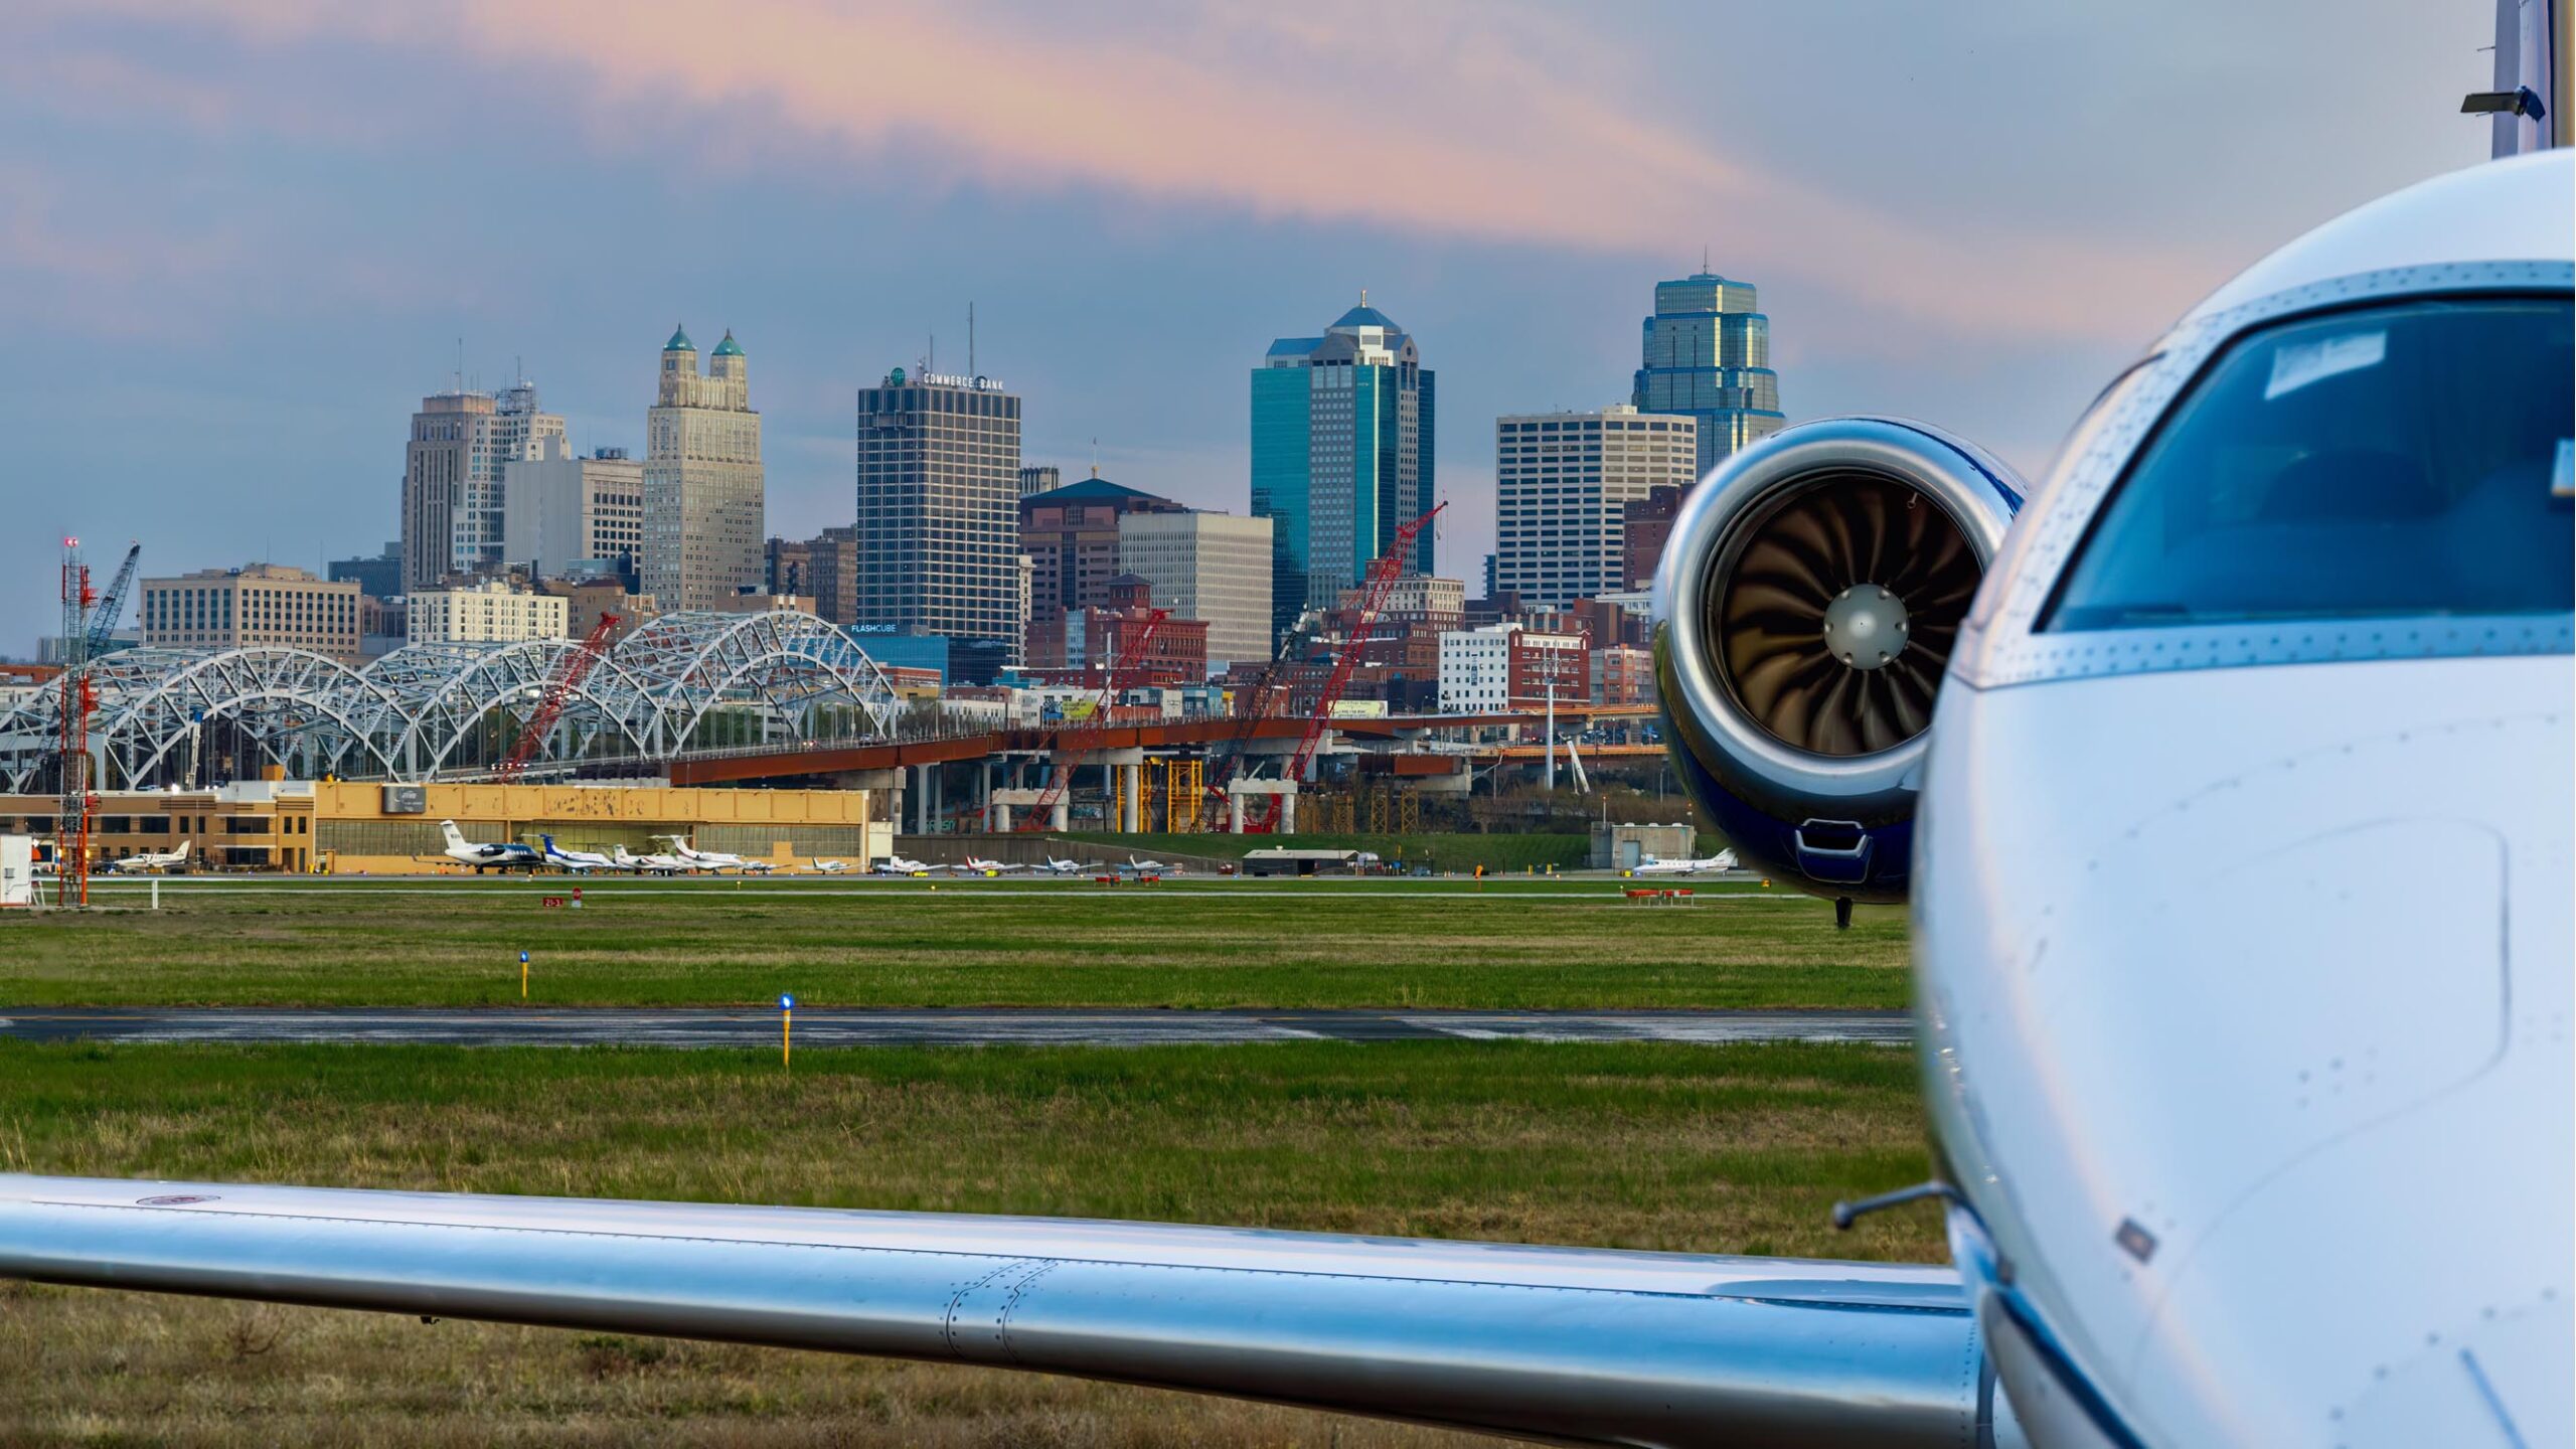
<svg viewBox="0 0 2576 1449">
<path fill-rule="evenodd" d="M 2576 312 L 2406 302 L 2236 340 L 2040 629 L 2576 608 Z"/>
</svg>

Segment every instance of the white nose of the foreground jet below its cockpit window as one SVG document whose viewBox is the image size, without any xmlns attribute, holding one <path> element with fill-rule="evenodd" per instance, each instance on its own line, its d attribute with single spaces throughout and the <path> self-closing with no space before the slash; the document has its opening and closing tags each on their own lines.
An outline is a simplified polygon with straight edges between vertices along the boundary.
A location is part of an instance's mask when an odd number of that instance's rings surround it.
<svg viewBox="0 0 2576 1449">
<path fill-rule="evenodd" d="M 2543 652 L 1945 699 L 1924 1070 L 2038 1441 L 2089 1441 L 2040 1428 L 2084 1400 L 2146 1444 L 2576 1434 L 2571 686 Z"/>
</svg>

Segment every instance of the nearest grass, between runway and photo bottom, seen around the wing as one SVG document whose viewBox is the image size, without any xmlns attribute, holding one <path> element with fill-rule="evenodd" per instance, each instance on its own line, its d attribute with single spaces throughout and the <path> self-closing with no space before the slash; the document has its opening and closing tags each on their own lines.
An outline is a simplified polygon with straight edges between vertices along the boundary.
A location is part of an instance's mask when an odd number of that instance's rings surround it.
<svg viewBox="0 0 2576 1449">
<path fill-rule="evenodd" d="M 0 1044 L 0 1165 L 1940 1253 L 1834 1196 L 1927 1173 L 1873 1047 L 1283 1044 L 765 1055 Z M 1466 1446 L 1069 1379 L 0 1289 L 10 1444 Z"/>
</svg>

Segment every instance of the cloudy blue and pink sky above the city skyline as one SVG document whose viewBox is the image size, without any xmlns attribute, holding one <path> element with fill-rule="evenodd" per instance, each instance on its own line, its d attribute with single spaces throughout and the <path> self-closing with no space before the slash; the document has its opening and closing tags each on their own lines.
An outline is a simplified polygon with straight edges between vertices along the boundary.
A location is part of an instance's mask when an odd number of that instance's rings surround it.
<svg viewBox="0 0 2576 1449">
<path fill-rule="evenodd" d="M 1074 15 L 1072 10 L 1090 10 Z M 1762 286 L 1790 418 L 2040 469 L 2262 250 L 2473 165 L 2491 0 L 866 5 L 13 0 L 0 652 L 54 539 L 374 552 L 420 394 L 526 369 L 641 451 L 732 327 L 770 531 L 850 518 L 930 345 L 1030 462 L 1244 511 L 1247 369 L 1365 286 L 1440 371 L 1443 572 L 1497 413 L 1620 402 L 1656 278 Z M 721 15 L 721 18 L 719 18 Z"/>
</svg>

